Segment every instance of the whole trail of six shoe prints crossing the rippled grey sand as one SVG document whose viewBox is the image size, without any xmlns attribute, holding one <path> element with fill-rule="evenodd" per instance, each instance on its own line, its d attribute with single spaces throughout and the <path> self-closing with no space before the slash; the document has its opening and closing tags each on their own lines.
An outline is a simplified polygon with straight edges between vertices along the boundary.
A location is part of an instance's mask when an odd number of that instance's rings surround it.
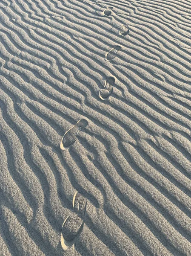
<svg viewBox="0 0 191 256">
<path fill-rule="evenodd" d="M 113 7 L 108 7 L 107 9 L 105 9 L 105 11 L 103 12 L 104 15 L 110 16 L 112 9 Z M 128 25 L 122 24 L 119 34 L 125 36 L 128 35 L 128 33 Z M 114 46 L 108 53 L 106 53 L 105 60 L 113 60 L 117 56 L 117 52 L 121 49 L 122 47 L 120 47 L 119 45 Z M 100 99 L 109 99 L 111 93 L 113 92 L 114 83 L 114 76 L 108 76 L 103 89 L 99 90 Z M 79 132 L 86 128 L 87 125 L 88 121 L 86 119 L 81 119 L 76 123 L 76 125 L 66 131 L 60 143 L 60 148 L 62 150 L 69 148 L 77 140 L 77 135 L 79 134 Z M 71 247 L 74 239 L 83 228 L 86 205 L 87 199 L 84 198 L 83 195 L 81 195 L 79 192 L 76 192 L 73 198 L 74 211 L 65 219 L 62 226 L 61 245 L 64 250 L 67 250 L 68 247 Z"/>
</svg>

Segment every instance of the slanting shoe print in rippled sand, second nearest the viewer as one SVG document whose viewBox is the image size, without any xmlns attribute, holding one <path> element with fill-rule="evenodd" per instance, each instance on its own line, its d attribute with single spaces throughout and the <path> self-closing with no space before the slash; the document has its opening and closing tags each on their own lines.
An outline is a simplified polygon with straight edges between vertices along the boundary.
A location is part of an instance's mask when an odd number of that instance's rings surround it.
<svg viewBox="0 0 191 256">
<path fill-rule="evenodd" d="M 77 135 L 81 130 L 83 130 L 88 125 L 88 121 L 86 119 L 81 119 L 74 125 L 70 130 L 68 130 L 60 143 L 60 148 L 62 150 L 68 148 L 71 144 L 73 144 L 77 140 Z"/>
</svg>

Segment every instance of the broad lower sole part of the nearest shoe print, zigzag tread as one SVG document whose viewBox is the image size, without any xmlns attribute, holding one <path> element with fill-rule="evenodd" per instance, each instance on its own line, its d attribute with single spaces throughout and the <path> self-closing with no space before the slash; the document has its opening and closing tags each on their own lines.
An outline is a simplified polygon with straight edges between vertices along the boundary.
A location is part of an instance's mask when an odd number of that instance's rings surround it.
<svg viewBox="0 0 191 256">
<path fill-rule="evenodd" d="M 76 213 L 73 212 L 64 221 L 61 236 L 64 240 L 71 242 L 80 232 L 82 226 L 83 220 Z"/>
</svg>

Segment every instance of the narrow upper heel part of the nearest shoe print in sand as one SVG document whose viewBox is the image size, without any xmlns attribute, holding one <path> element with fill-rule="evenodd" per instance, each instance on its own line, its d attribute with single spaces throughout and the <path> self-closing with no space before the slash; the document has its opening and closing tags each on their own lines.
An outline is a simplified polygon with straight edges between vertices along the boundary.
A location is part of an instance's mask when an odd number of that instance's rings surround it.
<svg viewBox="0 0 191 256">
<path fill-rule="evenodd" d="M 73 198 L 73 208 L 79 213 L 80 218 L 84 218 L 86 212 L 87 199 L 80 193 L 76 192 Z"/>
</svg>

